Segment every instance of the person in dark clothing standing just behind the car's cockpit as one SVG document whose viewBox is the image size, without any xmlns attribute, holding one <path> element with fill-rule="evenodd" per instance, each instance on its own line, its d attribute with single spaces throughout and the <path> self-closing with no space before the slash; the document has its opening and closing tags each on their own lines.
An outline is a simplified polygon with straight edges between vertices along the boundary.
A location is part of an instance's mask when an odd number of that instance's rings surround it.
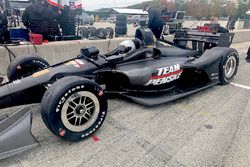
<svg viewBox="0 0 250 167">
<path fill-rule="evenodd" d="M 145 6 L 143 10 L 149 15 L 148 28 L 152 30 L 156 39 L 160 39 L 164 26 L 160 10 L 150 6 Z"/>
</svg>

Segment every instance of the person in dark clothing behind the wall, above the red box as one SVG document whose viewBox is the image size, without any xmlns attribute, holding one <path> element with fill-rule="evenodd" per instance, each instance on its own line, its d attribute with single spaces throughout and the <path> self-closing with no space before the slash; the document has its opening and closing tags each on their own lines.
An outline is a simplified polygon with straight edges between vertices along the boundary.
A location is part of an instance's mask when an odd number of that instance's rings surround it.
<svg viewBox="0 0 250 167">
<path fill-rule="evenodd" d="M 43 39 L 50 40 L 50 26 L 58 16 L 48 7 L 46 0 L 37 0 L 25 9 L 22 22 L 32 33 L 41 34 Z"/>
</svg>

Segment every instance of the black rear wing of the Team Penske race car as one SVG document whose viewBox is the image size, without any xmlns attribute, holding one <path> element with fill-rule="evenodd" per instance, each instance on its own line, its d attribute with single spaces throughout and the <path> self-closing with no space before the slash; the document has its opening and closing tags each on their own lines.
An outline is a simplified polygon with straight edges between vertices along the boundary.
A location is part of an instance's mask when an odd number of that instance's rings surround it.
<svg viewBox="0 0 250 167">
<path fill-rule="evenodd" d="M 174 43 L 178 44 L 181 41 L 191 41 L 194 45 L 198 45 L 198 50 L 203 50 L 204 45 L 211 45 L 212 47 L 229 47 L 234 38 L 234 33 L 211 33 L 199 32 L 192 30 L 181 30 L 175 33 Z M 207 49 L 207 48 L 205 48 Z"/>
</svg>

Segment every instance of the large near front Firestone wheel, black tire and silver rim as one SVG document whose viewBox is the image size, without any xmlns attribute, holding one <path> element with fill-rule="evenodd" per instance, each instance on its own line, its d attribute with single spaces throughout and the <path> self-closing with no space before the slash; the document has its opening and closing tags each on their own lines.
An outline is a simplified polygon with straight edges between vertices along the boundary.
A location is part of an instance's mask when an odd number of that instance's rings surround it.
<svg viewBox="0 0 250 167">
<path fill-rule="evenodd" d="M 96 132 L 107 114 L 102 88 L 82 77 L 57 80 L 44 94 L 41 115 L 56 136 L 78 142 Z"/>
</svg>

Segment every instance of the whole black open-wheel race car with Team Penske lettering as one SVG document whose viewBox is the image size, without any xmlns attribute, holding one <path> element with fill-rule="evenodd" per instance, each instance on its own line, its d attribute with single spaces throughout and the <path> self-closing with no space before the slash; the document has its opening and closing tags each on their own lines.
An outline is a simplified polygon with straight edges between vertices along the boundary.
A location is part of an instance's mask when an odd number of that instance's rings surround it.
<svg viewBox="0 0 250 167">
<path fill-rule="evenodd" d="M 83 48 L 76 58 L 53 66 L 37 56 L 16 58 L 8 68 L 9 82 L 0 86 L 0 108 L 41 103 L 42 119 L 52 133 L 81 141 L 101 127 L 108 97 L 155 106 L 228 84 L 237 73 L 239 55 L 229 48 L 232 34 L 180 31 L 174 42 L 157 43 L 148 29 L 136 34 L 110 53 Z M 0 145 L 6 146 L 0 157 L 36 145 L 27 134 L 29 113 L 23 109 L 0 119 Z"/>
</svg>

